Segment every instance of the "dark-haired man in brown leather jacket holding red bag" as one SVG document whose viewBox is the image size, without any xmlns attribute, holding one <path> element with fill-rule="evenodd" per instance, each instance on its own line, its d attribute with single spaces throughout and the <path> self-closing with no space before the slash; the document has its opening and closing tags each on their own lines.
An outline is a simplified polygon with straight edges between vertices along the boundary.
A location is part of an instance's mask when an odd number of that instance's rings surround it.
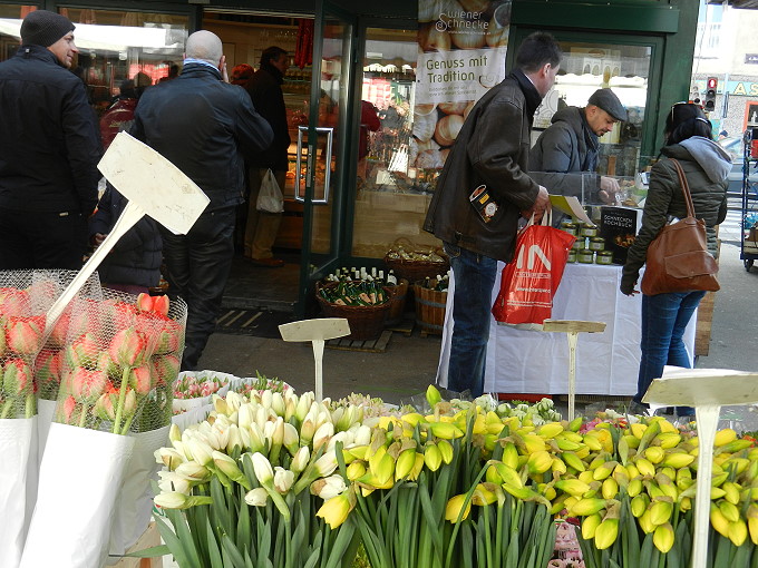
<svg viewBox="0 0 758 568">
<path fill-rule="evenodd" d="M 472 109 L 445 163 L 424 228 L 445 243 L 455 276 L 455 321 L 448 389 L 484 390 L 492 291 L 497 261 L 513 258 L 521 215 L 550 205 L 547 190 L 527 174 L 532 119 L 552 88 L 561 49 L 534 32 L 518 48 L 516 69 Z M 487 221 L 470 194 L 486 185 L 494 205 Z"/>
</svg>

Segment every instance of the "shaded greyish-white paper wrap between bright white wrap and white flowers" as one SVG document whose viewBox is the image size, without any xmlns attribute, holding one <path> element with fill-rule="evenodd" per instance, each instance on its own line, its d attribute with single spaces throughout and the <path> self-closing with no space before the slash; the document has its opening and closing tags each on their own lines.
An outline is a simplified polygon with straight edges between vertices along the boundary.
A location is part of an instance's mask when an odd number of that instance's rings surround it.
<svg viewBox="0 0 758 568">
<path fill-rule="evenodd" d="M 135 443 L 124 473 L 124 484 L 116 501 L 110 529 L 109 565 L 120 560 L 120 557 L 139 539 L 150 522 L 153 497 L 155 497 L 150 481 L 157 481 L 158 469 L 163 467 L 155 461 L 155 451 L 171 445 L 169 428 L 129 434 Z"/>
</svg>

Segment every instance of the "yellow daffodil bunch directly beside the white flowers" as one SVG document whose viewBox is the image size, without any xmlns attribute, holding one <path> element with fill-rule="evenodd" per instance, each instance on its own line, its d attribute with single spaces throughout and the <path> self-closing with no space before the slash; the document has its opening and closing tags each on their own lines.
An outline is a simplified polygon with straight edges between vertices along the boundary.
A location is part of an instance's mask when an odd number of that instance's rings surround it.
<svg viewBox="0 0 758 568">
<path fill-rule="evenodd" d="M 319 515 L 336 527 L 331 511 L 353 509 L 375 568 L 546 566 L 555 528 L 536 480 L 551 461 L 519 466 L 516 418 L 478 405 L 446 415 L 434 386 L 427 399 L 433 414 L 383 417 L 367 447 L 346 448 L 351 484 Z"/>
</svg>

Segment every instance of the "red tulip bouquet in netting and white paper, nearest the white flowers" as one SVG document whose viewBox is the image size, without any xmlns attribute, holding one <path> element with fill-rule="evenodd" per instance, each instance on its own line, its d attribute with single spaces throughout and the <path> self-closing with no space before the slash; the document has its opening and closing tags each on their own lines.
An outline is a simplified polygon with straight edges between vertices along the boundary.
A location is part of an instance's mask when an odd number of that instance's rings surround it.
<svg viewBox="0 0 758 568">
<path fill-rule="evenodd" d="M 60 558 L 71 568 L 101 566 L 146 528 L 185 321 L 181 300 L 103 290 L 80 294 L 56 322 L 50 351 L 38 356 L 49 362 L 40 382 L 48 394 L 57 390 L 57 402 L 21 567 Z"/>
</svg>

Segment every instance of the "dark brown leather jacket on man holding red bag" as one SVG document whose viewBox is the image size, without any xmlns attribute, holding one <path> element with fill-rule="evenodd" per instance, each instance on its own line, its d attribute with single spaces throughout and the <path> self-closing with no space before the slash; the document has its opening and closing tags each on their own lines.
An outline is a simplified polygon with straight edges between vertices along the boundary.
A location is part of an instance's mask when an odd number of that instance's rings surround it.
<svg viewBox="0 0 758 568">
<path fill-rule="evenodd" d="M 519 213 L 532 208 L 538 185 L 526 175 L 537 90 L 512 72 L 472 109 L 429 204 L 424 228 L 444 242 L 490 258 L 513 258 Z M 468 196 L 485 184 L 498 210 L 485 223 Z"/>
</svg>

